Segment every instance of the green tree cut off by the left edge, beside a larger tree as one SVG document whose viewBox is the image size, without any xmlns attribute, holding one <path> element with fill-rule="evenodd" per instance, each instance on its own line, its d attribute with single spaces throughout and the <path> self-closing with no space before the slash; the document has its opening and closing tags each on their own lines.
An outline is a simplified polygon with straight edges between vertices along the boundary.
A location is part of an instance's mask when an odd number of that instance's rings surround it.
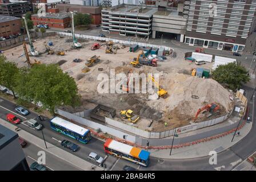
<svg viewBox="0 0 256 182">
<path fill-rule="evenodd" d="M 16 98 L 14 88 L 17 86 L 17 77 L 19 77 L 19 68 L 15 63 L 6 61 L 6 57 L 0 55 L 0 85 L 5 86 Z"/>
</svg>

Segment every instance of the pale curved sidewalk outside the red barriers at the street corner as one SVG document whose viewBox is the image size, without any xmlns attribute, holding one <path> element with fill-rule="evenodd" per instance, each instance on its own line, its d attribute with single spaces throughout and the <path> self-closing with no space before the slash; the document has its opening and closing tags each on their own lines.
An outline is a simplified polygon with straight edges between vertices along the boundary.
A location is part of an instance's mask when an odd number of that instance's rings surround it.
<svg viewBox="0 0 256 182">
<path fill-rule="evenodd" d="M 149 150 L 151 152 L 150 155 L 155 158 L 163 159 L 190 159 L 208 156 L 210 151 L 216 151 L 217 153 L 219 153 L 239 142 L 239 140 L 241 140 L 250 132 L 252 126 L 252 122 L 246 122 L 245 126 L 243 126 L 242 129 L 239 130 L 240 136 L 237 137 L 236 135 L 232 143 L 231 139 L 233 138 L 234 133 L 226 135 L 225 137 L 194 144 L 191 146 L 173 148 L 171 156 L 170 149 Z"/>
</svg>

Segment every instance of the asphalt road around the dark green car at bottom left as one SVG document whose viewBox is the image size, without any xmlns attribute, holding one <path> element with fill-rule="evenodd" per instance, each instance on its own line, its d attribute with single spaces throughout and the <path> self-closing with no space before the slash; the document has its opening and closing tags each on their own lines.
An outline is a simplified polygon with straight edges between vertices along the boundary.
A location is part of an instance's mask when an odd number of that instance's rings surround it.
<svg viewBox="0 0 256 182">
<path fill-rule="evenodd" d="M 23 151 L 26 156 L 27 164 L 29 166 L 37 162 L 38 160 L 38 151 L 45 151 L 42 150 L 42 148 L 39 148 L 35 146 L 34 144 L 31 144 L 27 142 L 26 147 L 23 148 Z M 79 171 L 80 169 L 73 166 L 73 164 L 67 163 L 65 160 L 62 160 L 58 158 L 57 156 L 50 154 L 49 152 L 45 151 L 46 156 L 46 163 L 44 166 L 47 167 L 50 171 Z"/>
</svg>

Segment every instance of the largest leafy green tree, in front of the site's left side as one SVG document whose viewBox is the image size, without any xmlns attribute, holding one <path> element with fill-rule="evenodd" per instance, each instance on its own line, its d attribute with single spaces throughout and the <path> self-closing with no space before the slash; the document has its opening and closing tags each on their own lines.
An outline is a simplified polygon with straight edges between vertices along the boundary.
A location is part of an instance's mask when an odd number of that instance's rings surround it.
<svg viewBox="0 0 256 182">
<path fill-rule="evenodd" d="M 16 90 L 23 100 L 41 102 L 52 114 L 57 106 L 74 107 L 80 103 L 74 78 L 55 64 L 38 64 L 30 70 L 23 68 Z"/>
</svg>

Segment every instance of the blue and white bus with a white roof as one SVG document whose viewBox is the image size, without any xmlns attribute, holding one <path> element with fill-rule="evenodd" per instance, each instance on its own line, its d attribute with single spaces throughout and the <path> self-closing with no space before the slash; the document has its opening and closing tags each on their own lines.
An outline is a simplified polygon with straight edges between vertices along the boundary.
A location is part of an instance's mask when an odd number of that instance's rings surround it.
<svg viewBox="0 0 256 182">
<path fill-rule="evenodd" d="M 87 143 L 91 139 L 91 132 L 81 126 L 75 125 L 65 119 L 54 117 L 50 120 L 51 129 L 61 134 L 67 135 L 82 143 Z"/>
</svg>

